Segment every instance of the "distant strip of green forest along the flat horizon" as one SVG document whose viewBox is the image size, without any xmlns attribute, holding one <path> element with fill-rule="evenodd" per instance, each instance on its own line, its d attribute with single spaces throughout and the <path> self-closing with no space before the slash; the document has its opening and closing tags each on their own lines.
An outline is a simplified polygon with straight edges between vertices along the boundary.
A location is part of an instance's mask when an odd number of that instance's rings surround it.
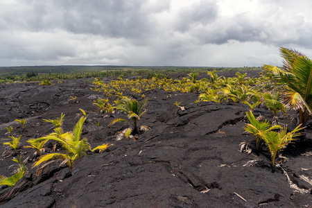
<svg viewBox="0 0 312 208">
<path fill-rule="evenodd" d="M 15 81 L 68 80 L 75 78 L 101 78 L 118 76 L 143 76 L 170 73 L 207 73 L 207 71 L 254 71 L 261 67 L 130 67 L 113 65 L 94 66 L 25 66 L 0 67 L 0 83 Z"/>
</svg>

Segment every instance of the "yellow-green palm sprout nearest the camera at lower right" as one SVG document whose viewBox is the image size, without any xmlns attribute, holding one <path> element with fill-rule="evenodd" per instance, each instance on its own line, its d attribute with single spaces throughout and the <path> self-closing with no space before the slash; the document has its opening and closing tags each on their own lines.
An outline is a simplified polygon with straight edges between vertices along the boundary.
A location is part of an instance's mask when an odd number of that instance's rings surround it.
<svg viewBox="0 0 312 208">
<path fill-rule="evenodd" d="M 263 141 L 266 143 L 266 146 L 270 150 L 272 166 L 275 166 L 275 157 L 277 152 L 293 141 L 293 137 L 298 137 L 301 135 L 300 133 L 297 133 L 298 131 L 302 130 L 300 126 L 301 125 L 298 125 L 291 132 L 287 132 L 286 127 L 282 128 L 279 132 L 259 132 L 260 137 L 263 139 Z"/>
</svg>

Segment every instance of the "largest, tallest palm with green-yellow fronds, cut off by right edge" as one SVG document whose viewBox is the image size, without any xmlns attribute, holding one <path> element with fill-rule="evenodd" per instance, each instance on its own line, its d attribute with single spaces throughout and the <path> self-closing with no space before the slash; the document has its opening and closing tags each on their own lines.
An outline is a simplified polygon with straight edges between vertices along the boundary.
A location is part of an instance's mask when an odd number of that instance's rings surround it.
<svg viewBox="0 0 312 208">
<path fill-rule="evenodd" d="M 281 100 L 298 110 L 299 123 L 305 125 L 312 113 L 312 61 L 297 51 L 281 47 L 284 69 L 266 65 L 271 79 L 281 86 Z"/>
</svg>

